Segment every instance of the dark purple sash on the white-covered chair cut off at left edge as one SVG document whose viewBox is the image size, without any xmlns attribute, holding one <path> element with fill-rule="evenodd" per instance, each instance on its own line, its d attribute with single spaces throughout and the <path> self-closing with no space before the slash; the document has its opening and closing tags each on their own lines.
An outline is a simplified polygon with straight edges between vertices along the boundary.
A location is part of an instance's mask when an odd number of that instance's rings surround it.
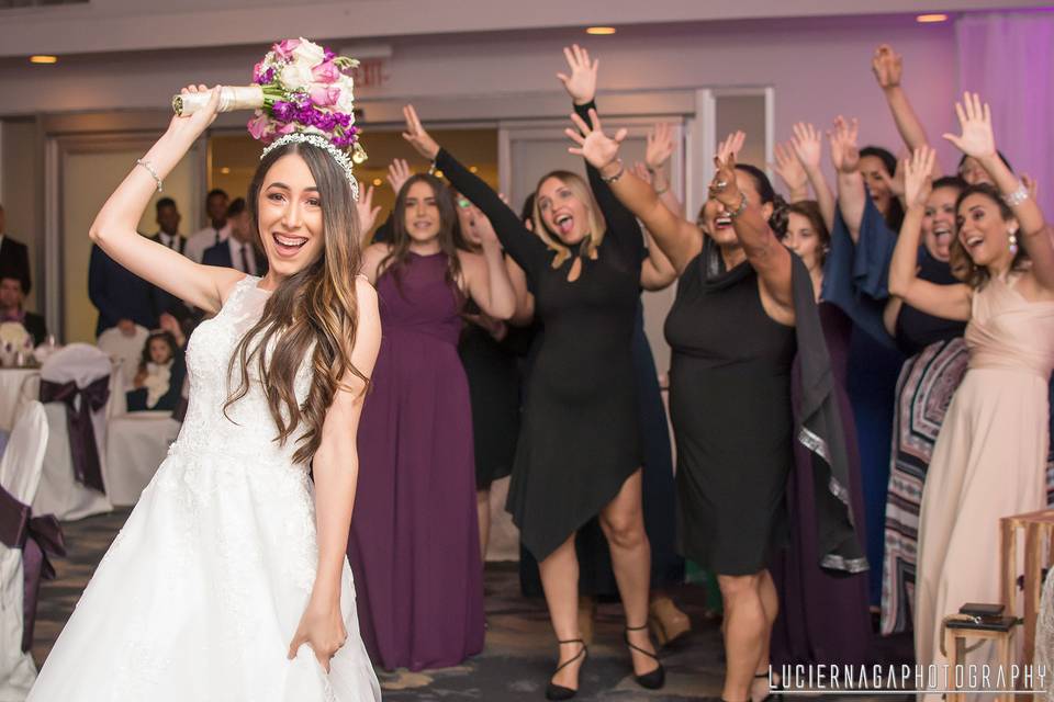
<svg viewBox="0 0 1054 702">
<path fill-rule="evenodd" d="M 0 543 L 22 550 L 22 650 L 33 645 L 36 623 L 36 598 L 41 578 L 55 577 L 55 566 L 48 556 L 66 555 L 63 530 L 53 514 L 33 517 L 29 505 L 23 505 L 0 486 Z"/>
</svg>

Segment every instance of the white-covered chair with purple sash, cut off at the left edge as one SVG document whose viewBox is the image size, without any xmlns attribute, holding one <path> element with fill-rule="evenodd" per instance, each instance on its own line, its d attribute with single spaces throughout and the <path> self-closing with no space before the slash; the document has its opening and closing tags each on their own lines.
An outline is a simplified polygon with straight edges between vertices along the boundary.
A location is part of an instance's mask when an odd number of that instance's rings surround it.
<svg viewBox="0 0 1054 702">
<path fill-rule="evenodd" d="M 33 532 L 34 528 L 49 525 L 55 536 L 57 523 L 31 519 L 25 507 L 33 501 L 41 480 L 47 433 L 44 406 L 36 401 L 27 404 L 0 458 L 0 487 L 3 488 L 0 492 L 0 702 L 21 702 L 36 680 L 36 666 L 27 646 L 32 641 L 35 588 L 46 553 L 51 551 L 55 555 L 56 552 L 47 548 L 42 561 L 40 539 Z M 30 575 L 29 588 L 26 574 Z M 31 598 L 29 611 L 26 591 Z"/>
</svg>

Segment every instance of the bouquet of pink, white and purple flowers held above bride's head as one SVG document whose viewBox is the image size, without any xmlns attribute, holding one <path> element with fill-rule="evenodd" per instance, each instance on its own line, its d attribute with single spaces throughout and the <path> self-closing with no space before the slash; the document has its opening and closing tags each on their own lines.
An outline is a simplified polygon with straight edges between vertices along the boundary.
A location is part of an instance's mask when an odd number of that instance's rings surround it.
<svg viewBox="0 0 1054 702">
<path fill-rule="evenodd" d="M 293 132 L 314 132 L 340 149 L 350 149 L 356 163 L 366 160 L 355 126 L 355 83 L 348 71 L 359 65 L 305 38 L 283 39 L 253 69 L 253 86 L 224 86 L 220 111 L 256 110 L 249 121 L 253 138 L 270 144 Z M 176 114 L 191 114 L 209 93 L 172 98 Z"/>
</svg>

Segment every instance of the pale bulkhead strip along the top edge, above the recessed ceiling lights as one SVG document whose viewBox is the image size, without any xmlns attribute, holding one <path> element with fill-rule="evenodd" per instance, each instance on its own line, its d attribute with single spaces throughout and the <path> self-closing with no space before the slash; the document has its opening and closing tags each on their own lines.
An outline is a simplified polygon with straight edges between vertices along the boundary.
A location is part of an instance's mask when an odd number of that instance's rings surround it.
<svg viewBox="0 0 1054 702">
<path fill-rule="evenodd" d="M 2 11 L 0 56 L 269 43 L 276 32 L 375 38 L 590 24 L 862 15 L 1042 7 L 1043 0 L 91 0 Z M 246 11 L 248 10 L 248 11 Z"/>
</svg>

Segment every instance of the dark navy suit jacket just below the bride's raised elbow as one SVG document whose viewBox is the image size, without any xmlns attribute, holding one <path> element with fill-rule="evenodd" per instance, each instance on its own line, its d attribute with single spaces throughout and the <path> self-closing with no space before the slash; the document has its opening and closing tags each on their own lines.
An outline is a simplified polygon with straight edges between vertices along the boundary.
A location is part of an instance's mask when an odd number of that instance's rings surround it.
<svg viewBox="0 0 1054 702">
<path fill-rule="evenodd" d="M 157 328 L 157 302 L 154 286 L 91 247 L 88 263 L 88 297 L 99 310 L 96 335 L 116 327 L 121 319 L 131 319 L 147 329 Z"/>
</svg>

